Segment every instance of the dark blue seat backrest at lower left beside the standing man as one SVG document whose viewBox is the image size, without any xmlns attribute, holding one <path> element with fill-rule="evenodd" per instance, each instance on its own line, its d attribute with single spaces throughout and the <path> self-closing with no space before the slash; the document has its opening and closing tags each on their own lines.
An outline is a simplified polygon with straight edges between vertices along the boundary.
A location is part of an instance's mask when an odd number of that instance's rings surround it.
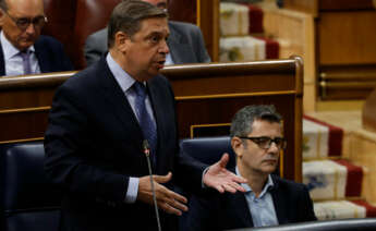
<svg viewBox="0 0 376 231">
<path fill-rule="evenodd" d="M 0 145 L 1 230 L 54 231 L 61 194 L 47 182 L 41 142 Z"/>
</svg>

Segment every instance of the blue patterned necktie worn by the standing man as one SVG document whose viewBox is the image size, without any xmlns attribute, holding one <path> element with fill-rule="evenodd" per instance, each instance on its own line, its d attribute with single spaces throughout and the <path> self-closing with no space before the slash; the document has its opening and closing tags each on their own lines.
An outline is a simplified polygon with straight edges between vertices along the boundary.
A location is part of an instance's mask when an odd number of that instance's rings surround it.
<svg viewBox="0 0 376 231">
<path fill-rule="evenodd" d="M 133 84 L 133 89 L 136 94 L 135 110 L 138 118 L 141 130 L 143 131 L 144 138 L 146 138 L 150 145 L 151 161 L 156 163 L 156 150 L 157 150 L 157 130 L 151 117 L 147 113 L 145 99 L 146 87 L 140 82 Z"/>
</svg>

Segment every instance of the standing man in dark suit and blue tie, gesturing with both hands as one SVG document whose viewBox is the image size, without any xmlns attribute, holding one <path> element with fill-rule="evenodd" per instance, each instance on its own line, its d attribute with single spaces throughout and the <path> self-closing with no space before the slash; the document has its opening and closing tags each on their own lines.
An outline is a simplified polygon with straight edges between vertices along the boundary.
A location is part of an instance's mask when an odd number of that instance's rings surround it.
<svg viewBox="0 0 376 231">
<path fill-rule="evenodd" d="M 168 35 L 165 11 L 121 2 L 109 22 L 109 53 L 57 90 L 45 169 L 63 191 L 61 230 L 157 230 L 145 139 L 163 231 L 177 230 L 177 215 L 187 209 L 173 183 L 244 190 L 238 183 L 245 179 L 225 168 L 228 155 L 210 167 L 179 156 L 174 96 L 159 75 Z"/>
</svg>

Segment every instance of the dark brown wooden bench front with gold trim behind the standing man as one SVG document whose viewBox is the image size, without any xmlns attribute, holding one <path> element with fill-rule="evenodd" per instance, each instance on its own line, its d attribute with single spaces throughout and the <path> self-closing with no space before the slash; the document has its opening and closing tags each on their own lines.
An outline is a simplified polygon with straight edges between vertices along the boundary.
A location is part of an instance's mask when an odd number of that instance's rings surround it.
<svg viewBox="0 0 376 231">
<path fill-rule="evenodd" d="M 74 73 L 0 78 L 0 143 L 41 139 L 53 92 Z M 175 94 L 182 138 L 190 137 L 194 126 L 229 124 L 233 114 L 246 105 L 275 105 L 283 117 L 288 139 L 282 174 L 301 181 L 303 64 L 300 58 L 171 65 L 162 74 Z M 223 130 L 219 130 L 222 135 Z"/>
</svg>

